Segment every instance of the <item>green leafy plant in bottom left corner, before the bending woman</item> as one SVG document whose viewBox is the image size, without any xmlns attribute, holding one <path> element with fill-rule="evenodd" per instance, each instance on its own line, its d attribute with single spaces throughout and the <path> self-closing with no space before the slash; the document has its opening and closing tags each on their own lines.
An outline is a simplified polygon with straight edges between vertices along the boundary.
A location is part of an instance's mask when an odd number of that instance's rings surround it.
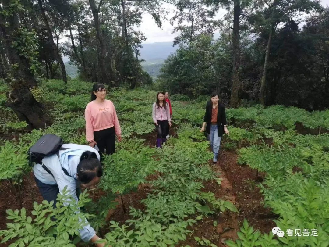
<svg viewBox="0 0 329 247">
<path fill-rule="evenodd" d="M 21 210 L 7 210 L 7 218 L 13 220 L 14 223 L 7 223 L 7 230 L 0 231 L 0 235 L 3 236 L 1 243 L 13 239 L 14 242 L 9 245 L 10 247 L 26 244 L 74 247 L 80 238 L 71 240 L 72 237 L 79 236 L 79 230 L 88 224 L 86 219 L 90 215 L 79 212 L 79 208 L 90 200 L 87 196 L 87 190 L 85 190 L 80 194 L 77 204 L 67 204 L 67 201 L 74 199 L 67 195 L 65 187 L 63 195 L 58 195 L 56 208 L 53 208 L 53 202 L 43 201 L 40 205 L 36 202 L 33 204 L 32 216 L 26 215 L 24 207 Z"/>
</svg>

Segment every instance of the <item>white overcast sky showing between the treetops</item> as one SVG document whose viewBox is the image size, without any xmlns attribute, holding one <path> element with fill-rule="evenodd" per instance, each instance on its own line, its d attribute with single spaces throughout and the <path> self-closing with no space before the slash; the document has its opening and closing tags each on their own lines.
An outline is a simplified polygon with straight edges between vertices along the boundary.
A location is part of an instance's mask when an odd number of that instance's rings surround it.
<svg viewBox="0 0 329 247">
<path fill-rule="evenodd" d="M 323 6 L 329 5 L 329 0 L 321 1 Z M 154 43 L 154 42 L 172 42 L 177 34 L 171 34 L 173 26 L 170 25 L 169 19 L 174 15 L 174 5 L 164 4 L 164 8 L 170 10 L 170 14 L 167 15 L 167 20 L 162 20 L 162 29 L 160 29 L 152 19 L 149 14 L 142 15 L 142 24 L 139 27 L 139 31 L 145 34 L 147 38 L 144 43 Z M 221 18 L 226 13 L 225 10 L 221 9 L 219 13 L 216 14 L 216 19 Z"/>
</svg>

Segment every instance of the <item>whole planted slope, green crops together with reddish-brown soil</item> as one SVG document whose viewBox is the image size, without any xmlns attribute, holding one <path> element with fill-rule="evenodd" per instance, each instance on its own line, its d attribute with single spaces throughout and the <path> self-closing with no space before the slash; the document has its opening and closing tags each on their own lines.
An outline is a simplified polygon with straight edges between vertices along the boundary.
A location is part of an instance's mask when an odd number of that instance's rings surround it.
<svg viewBox="0 0 329 247">
<path fill-rule="evenodd" d="M 105 247 L 224 247 L 223 242 L 232 247 L 327 246 L 329 110 L 308 112 L 281 105 L 226 108 L 229 133 L 222 135 L 218 162 L 213 162 L 215 154 L 200 132 L 206 101 L 179 101 L 182 95 L 173 95 L 170 138 L 155 148 L 156 92 L 110 90 L 122 141 L 116 142 L 114 154 L 102 160 L 100 182 L 80 195 L 78 205 L 84 211 L 77 212 L 76 204 L 65 204 L 65 192 L 59 194 L 55 209 L 43 201 L 26 154 L 44 134 L 56 134 L 64 143 L 87 144 L 84 111 L 92 83 L 44 80 L 39 87 L 54 118 L 51 126 L 29 131 L 24 122 L 14 120 L 11 109 L 0 106 L 6 113 L 1 123 L 12 122 L 0 131 L 11 135 L 0 140 L 0 201 L 6 202 L 0 204 L 0 247 L 8 247 L 8 242 L 18 246 L 26 236 L 29 246 L 41 246 L 44 239 L 53 246 L 81 246 L 71 229 L 83 228 L 79 219 L 88 215 L 89 224 L 103 233 Z M 0 96 L 6 97 L 4 92 Z M 17 132 L 14 126 L 25 127 Z M 70 185 L 76 188 L 75 179 Z M 60 218 L 52 221 L 53 215 Z M 61 235 L 54 236 L 63 222 Z M 281 236 L 273 236 L 272 229 L 278 227 Z M 44 236 L 29 233 L 35 229 Z M 305 238 L 289 236 L 291 229 L 314 234 L 307 238 L 309 245 Z M 70 245 L 61 244 L 62 236 Z M 259 244 L 250 245 L 250 239 Z M 118 245 L 121 242 L 125 245 Z"/>
</svg>

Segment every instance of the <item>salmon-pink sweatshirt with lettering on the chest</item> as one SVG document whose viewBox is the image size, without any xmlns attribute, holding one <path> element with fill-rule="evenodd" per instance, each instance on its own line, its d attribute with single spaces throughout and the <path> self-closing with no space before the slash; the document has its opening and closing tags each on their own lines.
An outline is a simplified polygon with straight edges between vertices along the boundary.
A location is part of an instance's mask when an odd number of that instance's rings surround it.
<svg viewBox="0 0 329 247">
<path fill-rule="evenodd" d="M 111 128 L 114 126 L 115 134 L 121 135 L 121 128 L 115 107 L 111 100 L 105 99 L 100 105 L 94 100 L 90 101 L 85 110 L 86 139 L 88 142 L 94 140 L 94 131 Z"/>
</svg>

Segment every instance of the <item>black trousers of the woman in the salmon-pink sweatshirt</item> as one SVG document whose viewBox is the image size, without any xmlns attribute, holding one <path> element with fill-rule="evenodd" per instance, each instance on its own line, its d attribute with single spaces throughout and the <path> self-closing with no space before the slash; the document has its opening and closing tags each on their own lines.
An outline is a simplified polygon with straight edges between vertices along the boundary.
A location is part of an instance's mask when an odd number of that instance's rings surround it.
<svg viewBox="0 0 329 247">
<path fill-rule="evenodd" d="M 94 140 L 97 142 L 97 147 L 99 148 L 99 154 L 113 154 L 115 153 L 115 130 L 114 126 L 108 129 L 102 129 L 94 131 Z"/>
</svg>

